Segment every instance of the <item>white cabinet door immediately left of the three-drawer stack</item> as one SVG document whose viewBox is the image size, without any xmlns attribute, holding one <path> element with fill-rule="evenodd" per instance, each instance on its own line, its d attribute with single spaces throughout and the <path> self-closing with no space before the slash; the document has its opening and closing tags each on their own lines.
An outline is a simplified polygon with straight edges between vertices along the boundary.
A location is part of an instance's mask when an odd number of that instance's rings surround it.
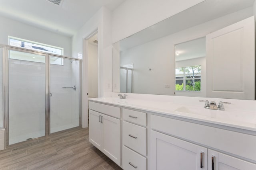
<svg viewBox="0 0 256 170">
<path fill-rule="evenodd" d="M 116 164 L 121 163 L 121 120 L 102 114 L 102 152 Z"/>
</svg>

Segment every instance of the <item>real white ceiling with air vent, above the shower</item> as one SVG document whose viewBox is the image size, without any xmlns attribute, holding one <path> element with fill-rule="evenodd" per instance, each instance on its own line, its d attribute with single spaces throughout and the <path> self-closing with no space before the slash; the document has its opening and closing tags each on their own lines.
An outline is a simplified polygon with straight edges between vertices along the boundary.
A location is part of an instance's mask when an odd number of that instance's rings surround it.
<svg viewBox="0 0 256 170">
<path fill-rule="evenodd" d="M 57 6 L 47 0 L 0 0 L 0 16 L 72 36 L 102 6 L 113 11 L 124 0 L 62 0 Z"/>
</svg>

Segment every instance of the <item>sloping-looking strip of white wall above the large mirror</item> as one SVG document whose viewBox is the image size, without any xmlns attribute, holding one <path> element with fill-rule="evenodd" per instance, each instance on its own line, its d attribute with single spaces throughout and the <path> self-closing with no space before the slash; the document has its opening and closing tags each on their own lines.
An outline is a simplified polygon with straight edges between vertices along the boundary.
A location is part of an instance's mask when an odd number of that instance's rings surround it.
<svg viewBox="0 0 256 170">
<path fill-rule="evenodd" d="M 204 0 L 126 0 L 112 16 L 112 43 Z"/>
</svg>

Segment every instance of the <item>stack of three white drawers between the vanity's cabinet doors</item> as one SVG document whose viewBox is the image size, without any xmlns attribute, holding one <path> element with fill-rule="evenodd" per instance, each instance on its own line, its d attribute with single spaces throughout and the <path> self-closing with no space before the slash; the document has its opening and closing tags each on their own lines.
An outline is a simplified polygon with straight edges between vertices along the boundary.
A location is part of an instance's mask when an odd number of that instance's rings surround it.
<svg viewBox="0 0 256 170">
<path fill-rule="evenodd" d="M 122 168 L 124 170 L 147 169 L 147 113 L 123 109 Z"/>
</svg>

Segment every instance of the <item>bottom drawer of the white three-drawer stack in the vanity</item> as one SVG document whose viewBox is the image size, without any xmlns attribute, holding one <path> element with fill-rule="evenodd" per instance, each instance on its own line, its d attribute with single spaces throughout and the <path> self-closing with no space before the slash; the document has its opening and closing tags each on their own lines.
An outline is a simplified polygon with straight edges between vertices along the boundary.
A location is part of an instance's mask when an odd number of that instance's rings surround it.
<svg viewBox="0 0 256 170">
<path fill-rule="evenodd" d="M 122 166 L 124 170 L 146 170 L 147 158 L 123 146 Z"/>
</svg>

